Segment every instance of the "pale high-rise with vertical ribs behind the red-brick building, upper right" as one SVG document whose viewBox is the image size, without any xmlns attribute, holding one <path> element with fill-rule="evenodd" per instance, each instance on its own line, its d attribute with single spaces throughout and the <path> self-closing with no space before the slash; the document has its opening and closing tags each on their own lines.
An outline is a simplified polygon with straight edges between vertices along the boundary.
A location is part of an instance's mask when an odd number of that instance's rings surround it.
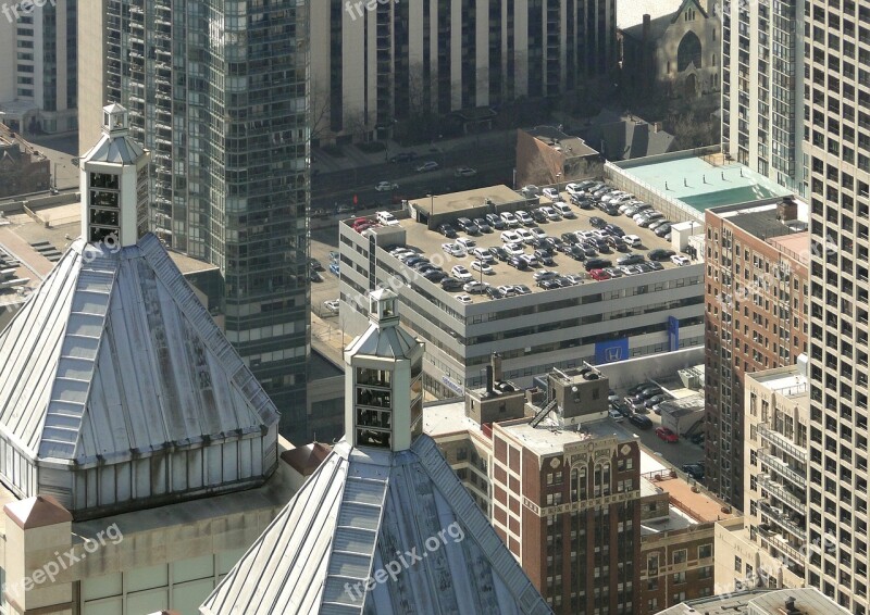
<svg viewBox="0 0 870 615">
<path fill-rule="evenodd" d="M 804 196 L 805 0 L 717 2 L 722 15 L 722 151 Z"/>
</svg>

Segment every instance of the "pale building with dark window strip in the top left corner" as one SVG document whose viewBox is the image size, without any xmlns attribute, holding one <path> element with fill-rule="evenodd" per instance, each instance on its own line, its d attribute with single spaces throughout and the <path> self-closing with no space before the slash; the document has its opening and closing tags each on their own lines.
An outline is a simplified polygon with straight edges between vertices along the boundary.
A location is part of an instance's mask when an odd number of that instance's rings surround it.
<svg viewBox="0 0 870 615">
<path fill-rule="evenodd" d="M 0 7 L 0 122 L 13 131 L 32 136 L 78 127 L 77 20 L 78 0 Z M 92 135 L 87 146 L 95 140 Z"/>
</svg>

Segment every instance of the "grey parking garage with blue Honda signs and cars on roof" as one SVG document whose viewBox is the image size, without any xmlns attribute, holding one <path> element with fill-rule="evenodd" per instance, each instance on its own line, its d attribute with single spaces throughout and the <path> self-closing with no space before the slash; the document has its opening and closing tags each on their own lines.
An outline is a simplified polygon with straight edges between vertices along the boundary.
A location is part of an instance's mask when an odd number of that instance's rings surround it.
<svg viewBox="0 0 870 615">
<path fill-rule="evenodd" d="M 557 265 L 550 268 L 558 267 L 562 274 L 576 272 L 577 284 L 551 290 L 536 286 L 533 271 L 496 263 L 493 275 L 474 272 L 474 279 L 484 278 L 493 287 L 522 284 L 530 292 L 496 300 L 475 294 L 465 304 L 457 299 L 459 290 L 444 290 L 388 251 L 394 246 L 411 246 L 433 262 L 440 260 L 445 272 L 455 265 L 468 267 L 471 258 L 446 254 L 442 243 L 448 240 L 435 228 L 462 216 L 474 218 L 536 204 L 537 198 L 530 201 L 495 186 L 411 203 L 413 218 L 362 234 L 355 230 L 353 219 L 343 221 L 341 326 L 358 334 L 368 318 L 366 305 L 358 298 L 378 284 L 394 288 L 402 301 L 403 324 L 427 341 L 424 388 L 438 398 L 461 397 L 465 387 L 481 387 L 493 352 L 501 355 L 506 378 L 531 386 L 534 376 L 554 366 L 580 367 L 584 361 L 602 364 L 700 346 L 704 265 L 699 262 L 678 266 L 668 261 L 661 271 L 637 271 L 636 275 L 596 281 L 583 271 L 582 262 L 557 254 Z M 557 238 L 563 233 L 591 230 L 591 212 L 575 211 L 575 218 L 546 223 L 543 229 Z M 626 222 L 618 223 L 626 233 L 643 237 L 645 247 L 670 247 L 648 229 L 623 219 Z M 501 246 L 499 233 L 473 240 L 484 248 Z M 616 261 L 621 253 L 604 255 Z"/>
</svg>

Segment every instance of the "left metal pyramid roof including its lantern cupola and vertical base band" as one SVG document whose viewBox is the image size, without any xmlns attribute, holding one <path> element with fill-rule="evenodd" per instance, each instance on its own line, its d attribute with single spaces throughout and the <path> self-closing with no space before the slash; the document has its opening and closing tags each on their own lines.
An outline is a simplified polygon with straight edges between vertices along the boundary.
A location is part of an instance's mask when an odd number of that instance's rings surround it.
<svg viewBox="0 0 870 615">
<path fill-rule="evenodd" d="M 80 163 L 84 238 L 0 334 L 0 479 L 76 519 L 252 487 L 277 462 L 274 405 L 158 239 L 138 237 L 147 154 L 125 123 L 105 108 Z"/>
</svg>

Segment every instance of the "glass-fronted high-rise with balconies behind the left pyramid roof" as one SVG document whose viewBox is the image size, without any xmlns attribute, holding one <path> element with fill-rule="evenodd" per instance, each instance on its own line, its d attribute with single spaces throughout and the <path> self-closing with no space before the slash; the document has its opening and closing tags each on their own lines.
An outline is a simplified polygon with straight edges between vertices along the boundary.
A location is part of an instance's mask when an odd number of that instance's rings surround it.
<svg viewBox="0 0 870 615">
<path fill-rule="evenodd" d="M 151 151 L 151 230 L 217 265 L 226 337 L 307 439 L 309 2 L 83 7 L 84 113 L 130 112 Z M 97 98 L 98 101 L 91 99 Z M 90 116 L 80 139 L 92 140 Z"/>
</svg>

